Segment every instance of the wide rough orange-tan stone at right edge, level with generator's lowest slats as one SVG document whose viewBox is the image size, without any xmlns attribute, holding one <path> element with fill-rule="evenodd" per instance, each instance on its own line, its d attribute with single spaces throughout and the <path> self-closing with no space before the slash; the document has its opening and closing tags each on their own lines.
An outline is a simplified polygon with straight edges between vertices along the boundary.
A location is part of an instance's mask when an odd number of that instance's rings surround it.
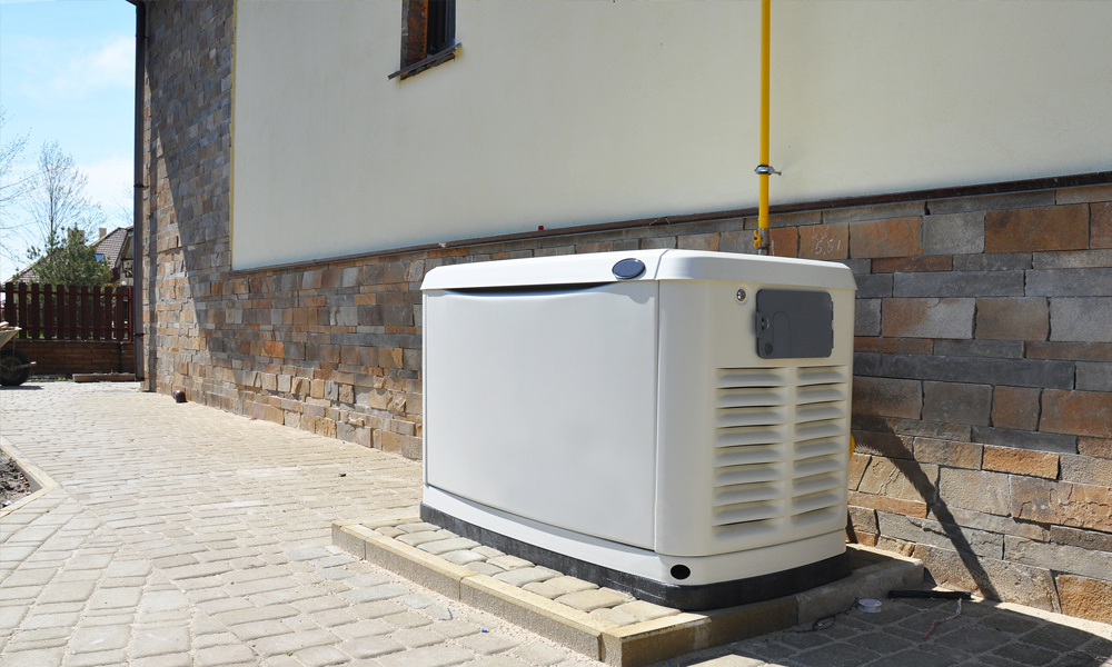
<svg viewBox="0 0 1112 667">
<path fill-rule="evenodd" d="M 1020 520 L 1112 532 L 1112 488 L 1013 477 L 1011 512 Z"/>
</svg>

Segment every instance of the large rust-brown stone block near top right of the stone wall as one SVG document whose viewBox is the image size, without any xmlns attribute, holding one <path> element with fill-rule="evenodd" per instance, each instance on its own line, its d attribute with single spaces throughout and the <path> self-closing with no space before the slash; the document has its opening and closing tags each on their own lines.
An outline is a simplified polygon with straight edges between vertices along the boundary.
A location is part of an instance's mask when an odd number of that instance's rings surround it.
<svg viewBox="0 0 1112 667">
<path fill-rule="evenodd" d="M 1054 233 L 1046 233 L 1053 229 Z M 1089 246 L 1089 205 L 987 211 L 985 252 L 1084 250 Z"/>
</svg>

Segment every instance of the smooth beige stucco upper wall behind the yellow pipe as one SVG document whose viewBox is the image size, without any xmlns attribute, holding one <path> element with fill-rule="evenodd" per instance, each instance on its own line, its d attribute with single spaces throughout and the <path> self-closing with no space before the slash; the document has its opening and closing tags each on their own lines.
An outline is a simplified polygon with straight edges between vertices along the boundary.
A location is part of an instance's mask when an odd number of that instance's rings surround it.
<svg viewBox="0 0 1112 667">
<path fill-rule="evenodd" d="M 774 203 L 1112 169 L 1112 2 L 773 3 Z M 237 269 L 756 203 L 757 2 L 239 0 Z"/>
</svg>

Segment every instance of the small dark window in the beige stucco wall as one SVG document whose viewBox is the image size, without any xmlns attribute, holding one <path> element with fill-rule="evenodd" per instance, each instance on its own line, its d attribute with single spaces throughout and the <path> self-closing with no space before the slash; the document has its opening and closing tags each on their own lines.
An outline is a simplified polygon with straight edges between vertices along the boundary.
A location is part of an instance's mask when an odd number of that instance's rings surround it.
<svg viewBox="0 0 1112 667">
<path fill-rule="evenodd" d="M 403 0 L 401 69 L 388 78 L 407 79 L 455 59 L 456 0 Z"/>
</svg>

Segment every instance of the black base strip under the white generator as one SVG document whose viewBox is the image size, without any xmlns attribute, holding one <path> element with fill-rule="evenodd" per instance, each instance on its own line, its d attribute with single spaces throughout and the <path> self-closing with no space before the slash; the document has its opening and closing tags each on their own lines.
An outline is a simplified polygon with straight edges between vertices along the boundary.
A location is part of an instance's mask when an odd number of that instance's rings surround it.
<svg viewBox="0 0 1112 667">
<path fill-rule="evenodd" d="M 450 530 L 461 537 L 474 539 L 484 546 L 530 560 L 570 577 L 577 577 L 592 584 L 628 593 L 639 600 L 683 609 L 685 611 L 736 607 L 737 605 L 792 595 L 793 593 L 800 593 L 848 577 L 853 571 L 850 566 L 850 555 L 841 554 L 810 565 L 761 575 L 759 577 L 749 577 L 748 579 L 734 579 L 732 581 L 702 584 L 698 586 L 677 586 L 602 567 L 593 563 L 579 560 L 578 558 L 557 554 L 536 545 L 523 542 L 453 517 L 438 509 L 428 507 L 424 502 L 420 506 L 420 518 L 424 521 Z"/>
</svg>

